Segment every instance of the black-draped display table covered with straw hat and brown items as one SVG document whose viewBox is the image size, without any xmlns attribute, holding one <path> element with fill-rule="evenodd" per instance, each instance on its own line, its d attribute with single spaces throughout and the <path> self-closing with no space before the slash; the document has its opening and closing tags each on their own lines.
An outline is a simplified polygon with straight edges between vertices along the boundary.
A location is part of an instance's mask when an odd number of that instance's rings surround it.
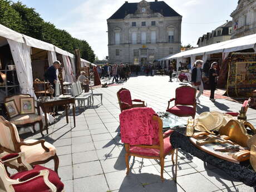
<svg viewBox="0 0 256 192">
<path fill-rule="evenodd" d="M 174 128 L 170 142 L 175 149 L 184 150 L 255 189 L 256 135 L 253 136 L 254 127 L 246 127 L 243 120 L 205 112 L 189 119 L 186 127 Z"/>
</svg>

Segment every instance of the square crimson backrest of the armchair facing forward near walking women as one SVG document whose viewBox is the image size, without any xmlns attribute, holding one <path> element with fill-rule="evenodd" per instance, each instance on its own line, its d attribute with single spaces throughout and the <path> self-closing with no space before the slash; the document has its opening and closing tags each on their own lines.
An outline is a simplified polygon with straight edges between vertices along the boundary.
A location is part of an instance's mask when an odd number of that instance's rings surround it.
<svg viewBox="0 0 256 192">
<path fill-rule="evenodd" d="M 176 88 L 175 105 L 194 105 L 196 90 L 190 86 Z"/>
</svg>

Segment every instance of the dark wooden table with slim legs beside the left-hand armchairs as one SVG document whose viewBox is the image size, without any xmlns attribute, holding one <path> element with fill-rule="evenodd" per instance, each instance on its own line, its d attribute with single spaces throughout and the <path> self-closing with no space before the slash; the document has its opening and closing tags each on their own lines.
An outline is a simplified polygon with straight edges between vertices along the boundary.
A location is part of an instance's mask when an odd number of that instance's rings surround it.
<svg viewBox="0 0 256 192">
<path fill-rule="evenodd" d="M 37 102 L 37 112 L 38 115 L 40 115 L 40 107 L 45 113 L 45 129 L 48 134 L 48 121 L 47 121 L 47 112 L 51 112 L 51 107 L 54 106 L 65 106 L 65 112 L 66 112 L 66 121 L 68 124 L 68 104 L 72 104 L 72 110 L 73 110 L 73 120 L 74 120 L 74 126 L 76 126 L 76 112 L 75 112 L 75 97 L 70 97 L 68 99 L 60 99 L 60 98 L 53 98 L 47 101 L 40 101 L 36 100 Z"/>
</svg>

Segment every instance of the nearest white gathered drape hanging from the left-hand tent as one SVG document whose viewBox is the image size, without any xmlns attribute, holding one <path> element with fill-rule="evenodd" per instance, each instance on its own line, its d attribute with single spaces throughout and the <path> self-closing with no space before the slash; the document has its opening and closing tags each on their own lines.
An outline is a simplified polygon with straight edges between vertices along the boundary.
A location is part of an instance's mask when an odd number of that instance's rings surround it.
<svg viewBox="0 0 256 192">
<path fill-rule="evenodd" d="M 16 66 L 19 86 L 22 94 L 36 95 L 33 90 L 33 75 L 31 67 L 30 47 L 24 43 L 8 40 L 12 57 Z"/>
</svg>

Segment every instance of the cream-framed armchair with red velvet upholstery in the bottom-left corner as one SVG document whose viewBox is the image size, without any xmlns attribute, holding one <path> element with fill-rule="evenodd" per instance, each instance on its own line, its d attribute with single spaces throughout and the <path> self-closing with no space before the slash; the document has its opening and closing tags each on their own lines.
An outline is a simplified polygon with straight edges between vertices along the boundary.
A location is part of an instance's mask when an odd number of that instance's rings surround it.
<svg viewBox="0 0 256 192">
<path fill-rule="evenodd" d="M 21 161 L 26 171 L 9 176 L 7 164 Z M 40 165 L 31 167 L 24 160 L 24 153 L 9 154 L 0 159 L 0 191 L 1 192 L 64 192 L 64 185 L 58 174 Z"/>
</svg>

